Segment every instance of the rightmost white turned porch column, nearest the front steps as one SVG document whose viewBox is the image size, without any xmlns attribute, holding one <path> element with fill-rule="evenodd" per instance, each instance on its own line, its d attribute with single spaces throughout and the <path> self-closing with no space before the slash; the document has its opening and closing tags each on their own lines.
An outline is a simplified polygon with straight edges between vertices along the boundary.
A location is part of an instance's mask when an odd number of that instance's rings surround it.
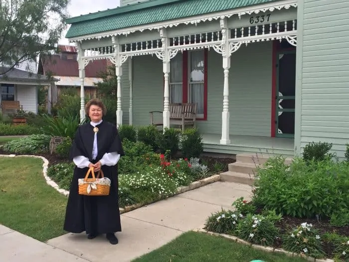
<svg viewBox="0 0 349 262">
<path fill-rule="evenodd" d="M 227 19 L 220 21 L 222 28 L 222 56 L 224 69 L 224 85 L 223 85 L 223 112 L 222 112 L 222 137 L 220 144 L 230 144 L 229 139 L 229 69 L 230 69 L 230 47 L 229 38 L 230 30 L 227 26 Z"/>
</svg>

